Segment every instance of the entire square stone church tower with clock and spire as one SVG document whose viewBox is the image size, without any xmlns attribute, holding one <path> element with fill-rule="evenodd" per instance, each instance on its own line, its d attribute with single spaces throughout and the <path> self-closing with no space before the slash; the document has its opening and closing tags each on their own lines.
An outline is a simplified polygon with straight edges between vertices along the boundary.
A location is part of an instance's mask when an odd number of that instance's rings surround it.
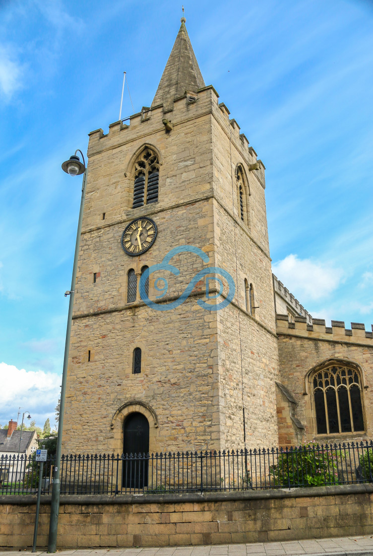
<svg viewBox="0 0 373 556">
<path fill-rule="evenodd" d="M 265 168 L 184 18 L 151 107 L 89 133 L 88 156 L 63 452 L 277 445 Z M 150 268 L 173 249 L 179 274 Z"/>
</svg>

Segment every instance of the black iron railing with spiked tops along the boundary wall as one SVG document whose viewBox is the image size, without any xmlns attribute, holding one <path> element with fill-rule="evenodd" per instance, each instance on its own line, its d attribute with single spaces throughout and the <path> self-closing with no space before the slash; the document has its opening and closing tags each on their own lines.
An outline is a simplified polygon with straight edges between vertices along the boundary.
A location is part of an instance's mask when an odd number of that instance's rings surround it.
<svg viewBox="0 0 373 556">
<path fill-rule="evenodd" d="M 54 459 L 44 463 L 50 493 Z M 373 441 L 290 449 L 63 455 L 61 494 L 161 494 L 373 483 Z M 34 455 L 0 456 L 0 495 L 33 494 Z"/>
</svg>

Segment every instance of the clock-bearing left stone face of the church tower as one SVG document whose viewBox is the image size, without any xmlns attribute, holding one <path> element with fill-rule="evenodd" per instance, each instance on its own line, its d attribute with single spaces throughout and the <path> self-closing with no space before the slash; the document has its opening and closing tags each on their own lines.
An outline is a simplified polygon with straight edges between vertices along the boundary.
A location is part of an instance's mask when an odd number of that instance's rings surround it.
<svg viewBox="0 0 373 556">
<path fill-rule="evenodd" d="M 174 247 L 198 247 L 212 255 L 213 264 L 211 95 L 207 88 L 192 105 L 185 98 L 175 102 L 168 115 L 173 123 L 169 134 L 162 107 L 145 120 L 133 116 L 130 126 L 113 124 L 106 136 L 102 130 L 90 134 L 65 452 L 121 453 L 123 420 L 130 411 L 146 415 L 151 452 L 220 447 L 217 324 L 215 314 L 197 305 L 204 284 L 197 284 L 177 309 L 150 309 L 139 294 L 136 302 L 127 303 L 128 270 L 140 278 L 143 265 L 161 262 Z M 158 152 L 159 197 L 157 203 L 132 210 L 134 162 L 144 145 Z M 145 254 L 130 257 L 121 248 L 121 235 L 128 222 L 141 216 L 155 220 L 157 239 Z M 180 275 L 166 273 L 166 300 L 177 298 L 205 265 L 194 254 L 176 256 L 172 264 Z M 161 275 L 151 276 L 151 297 Z M 137 375 L 132 374 L 135 347 L 142 350 Z"/>
</svg>

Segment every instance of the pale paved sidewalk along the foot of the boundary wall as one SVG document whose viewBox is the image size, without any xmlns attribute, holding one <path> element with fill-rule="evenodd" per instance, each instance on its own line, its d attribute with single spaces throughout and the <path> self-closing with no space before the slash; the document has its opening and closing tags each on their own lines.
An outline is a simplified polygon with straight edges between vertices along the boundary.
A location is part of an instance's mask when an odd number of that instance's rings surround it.
<svg viewBox="0 0 373 556">
<path fill-rule="evenodd" d="M 21 553 L 31 553 L 22 550 Z M 0 554 L 19 556 L 19 551 L 3 551 Z M 47 554 L 37 550 L 36 556 Z M 214 544 L 198 547 L 162 547 L 162 548 L 78 548 L 75 550 L 58 550 L 58 556 L 373 556 L 373 535 L 366 537 L 340 537 L 335 539 L 291 540 L 278 543 L 251 544 Z"/>
</svg>

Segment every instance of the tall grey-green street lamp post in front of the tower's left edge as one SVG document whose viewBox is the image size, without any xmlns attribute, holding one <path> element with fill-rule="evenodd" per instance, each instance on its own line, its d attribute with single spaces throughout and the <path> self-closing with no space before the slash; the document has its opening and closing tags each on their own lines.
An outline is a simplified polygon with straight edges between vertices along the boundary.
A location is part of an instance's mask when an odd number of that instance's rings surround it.
<svg viewBox="0 0 373 556">
<path fill-rule="evenodd" d="M 81 153 L 83 158 L 83 163 L 79 160 L 79 157 L 76 154 L 77 152 Z M 83 185 L 82 185 L 82 198 L 80 202 L 78 230 L 77 230 L 76 244 L 75 244 L 74 264 L 72 269 L 71 290 L 67 291 L 65 294 L 65 296 L 69 295 L 70 299 L 69 299 L 68 316 L 67 316 L 66 342 L 65 342 L 64 357 L 63 357 L 61 401 L 59 406 L 56 461 L 54 464 L 54 479 L 53 479 L 53 486 L 52 486 L 51 518 L 49 520 L 48 552 L 56 552 L 56 547 L 57 547 L 59 493 L 61 492 L 61 482 L 59 480 L 59 465 L 61 463 L 63 410 L 64 410 L 64 400 L 65 400 L 65 393 L 66 393 L 67 364 L 68 364 L 68 352 L 70 346 L 72 309 L 74 304 L 75 281 L 76 281 L 76 272 L 78 267 L 79 242 L 80 242 L 80 234 L 82 229 L 84 197 L 86 195 L 86 183 L 87 183 L 87 168 L 86 168 L 86 162 L 84 161 L 84 156 L 82 151 L 77 149 L 75 151 L 75 154 L 71 156 L 69 160 L 63 162 L 62 170 L 68 173 L 70 176 L 79 176 L 83 174 Z"/>
</svg>

